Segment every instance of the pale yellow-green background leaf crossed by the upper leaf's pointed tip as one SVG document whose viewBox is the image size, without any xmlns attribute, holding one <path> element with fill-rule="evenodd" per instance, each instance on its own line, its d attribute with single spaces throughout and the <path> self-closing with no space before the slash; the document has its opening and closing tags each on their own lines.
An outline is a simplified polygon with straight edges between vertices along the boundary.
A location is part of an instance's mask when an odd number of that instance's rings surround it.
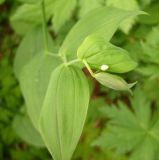
<svg viewBox="0 0 159 160">
<path fill-rule="evenodd" d="M 107 6 L 113 6 L 124 10 L 139 10 L 137 0 L 107 0 Z M 121 23 L 120 28 L 125 33 L 128 33 L 135 22 L 134 17 L 129 18 Z"/>
</svg>

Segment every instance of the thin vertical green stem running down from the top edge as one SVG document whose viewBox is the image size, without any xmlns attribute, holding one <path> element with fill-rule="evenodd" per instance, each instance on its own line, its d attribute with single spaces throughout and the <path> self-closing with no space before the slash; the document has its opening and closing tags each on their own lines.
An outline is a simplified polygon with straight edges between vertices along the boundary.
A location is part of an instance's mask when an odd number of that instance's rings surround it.
<svg viewBox="0 0 159 160">
<path fill-rule="evenodd" d="M 46 11 L 45 11 L 45 0 L 42 1 L 41 3 L 42 7 L 42 24 L 43 24 L 43 33 L 44 33 L 44 44 L 45 44 L 45 51 L 48 51 L 48 32 L 47 32 L 47 20 L 46 20 Z"/>
</svg>

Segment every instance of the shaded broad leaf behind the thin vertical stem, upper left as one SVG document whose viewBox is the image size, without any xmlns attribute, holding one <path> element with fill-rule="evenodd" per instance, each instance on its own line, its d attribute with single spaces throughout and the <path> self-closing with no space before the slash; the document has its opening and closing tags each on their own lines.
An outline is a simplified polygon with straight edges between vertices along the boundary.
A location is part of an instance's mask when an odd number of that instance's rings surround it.
<svg viewBox="0 0 159 160">
<path fill-rule="evenodd" d="M 48 35 L 48 44 L 52 50 L 53 42 L 51 36 Z M 35 27 L 32 31 L 27 33 L 20 43 L 15 60 L 14 73 L 18 78 L 23 67 L 39 52 L 44 51 L 44 36 L 42 26 Z"/>
</svg>

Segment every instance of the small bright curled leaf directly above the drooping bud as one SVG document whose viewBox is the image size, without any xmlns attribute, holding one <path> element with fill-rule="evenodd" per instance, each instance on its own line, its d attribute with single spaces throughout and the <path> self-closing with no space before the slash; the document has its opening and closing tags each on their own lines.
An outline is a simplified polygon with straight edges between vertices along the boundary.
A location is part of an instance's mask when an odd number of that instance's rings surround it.
<svg viewBox="0 0 159 160">
<path fill-rule="evenodd" d="M 86 60 L 90 66 L 96 69 L 107 65 L 108 72 L 125 73 L 137 66 L 126 50 L 116 47 L 105 41 L 102 36 L 94 34 L 84 40 L 77 50 L 77 56 Z"/>
</svg>

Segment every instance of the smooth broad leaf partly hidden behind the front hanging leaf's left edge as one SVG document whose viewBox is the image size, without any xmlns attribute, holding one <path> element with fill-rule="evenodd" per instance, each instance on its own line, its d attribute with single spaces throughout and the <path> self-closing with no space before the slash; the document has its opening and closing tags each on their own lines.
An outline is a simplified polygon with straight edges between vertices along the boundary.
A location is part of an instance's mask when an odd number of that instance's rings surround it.
<svg viewBox="0 0 159 160">
<path fill-rule="evenodd" d="M 47 56 L 42 52 L 37 54 L 20 74 L 20 86 L 27 112 L 36 129 L 39 127 L 39 116 L 51 72 L 60 63 L 58 57 Z"/>
</svg>

